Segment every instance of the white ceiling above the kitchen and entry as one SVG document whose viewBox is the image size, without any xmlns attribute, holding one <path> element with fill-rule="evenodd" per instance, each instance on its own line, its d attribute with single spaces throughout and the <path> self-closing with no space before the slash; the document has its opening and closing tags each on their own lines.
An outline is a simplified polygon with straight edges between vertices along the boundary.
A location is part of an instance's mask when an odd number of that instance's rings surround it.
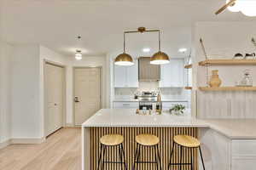
<svg viewBox="0 0 256 170">
<path fill-rule="evenodd" d="M 40 43 L 72 56 L 122 52 L 123 31 L 138 26 L 161 29 L 162 51 L 189 48 L 196 21 L 255 20 L 239 13 L 214 12 L 225 0 L 0 0 L 1 37 L 11 43 Z M 76 37 L 80 35 L 79 42 Z M 157 50 L 157 34 L 127 36 L 127 51 Z M 149 54 L 148 54 L 149 55 Z"/>
</svg>

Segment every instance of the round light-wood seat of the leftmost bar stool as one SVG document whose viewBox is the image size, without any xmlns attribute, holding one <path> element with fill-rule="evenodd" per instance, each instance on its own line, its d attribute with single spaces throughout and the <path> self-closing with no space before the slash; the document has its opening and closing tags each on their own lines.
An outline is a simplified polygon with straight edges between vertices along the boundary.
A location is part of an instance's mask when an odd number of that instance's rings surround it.
<svg viewBox="0 0 256 170">
<path fill-rule="evenodd" d="M 115 146 L 122 144 L 124 142 L 124 137 L 120 134 L 107 134 L 102 136 L 100 142 L 107 146 Z"/>
</svg>

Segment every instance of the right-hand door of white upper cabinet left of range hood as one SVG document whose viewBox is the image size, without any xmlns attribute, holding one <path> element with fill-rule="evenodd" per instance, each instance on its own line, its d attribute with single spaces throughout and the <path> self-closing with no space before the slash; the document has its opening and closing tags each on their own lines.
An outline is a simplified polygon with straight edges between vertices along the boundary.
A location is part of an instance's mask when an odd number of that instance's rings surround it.
<svg viewBox="0 0 256 170">
<path fill-rule="evenodd" d="M 134 60 L 134 65 L 126 67 L 126 86 L 128 88 L 138 88 L 138 61 Z"/>
</svg>

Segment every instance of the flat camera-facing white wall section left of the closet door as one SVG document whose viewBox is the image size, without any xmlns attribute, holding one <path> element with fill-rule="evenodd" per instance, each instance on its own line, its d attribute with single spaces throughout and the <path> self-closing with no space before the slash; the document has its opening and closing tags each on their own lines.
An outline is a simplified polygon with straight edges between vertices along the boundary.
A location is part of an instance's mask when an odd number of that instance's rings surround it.
<svg viewBox="0 0 256 170">
<path fill-rule="evenodd" d="M 39 139 L 39 46 L 15 45 L 11 67 L 12 138 Z"/>
</svg>

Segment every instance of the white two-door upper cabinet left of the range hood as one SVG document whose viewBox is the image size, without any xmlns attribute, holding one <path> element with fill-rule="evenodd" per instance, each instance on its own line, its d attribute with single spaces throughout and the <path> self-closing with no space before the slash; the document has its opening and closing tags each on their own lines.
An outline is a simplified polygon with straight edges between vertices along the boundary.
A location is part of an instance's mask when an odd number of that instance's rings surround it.
<svg viewBox="0 0 256 170">
<path fill-rule="evenodd" d="M 134 65 L 114 65 L 114 88 L 138 88 L 138 62 Z"/>
</svg>

